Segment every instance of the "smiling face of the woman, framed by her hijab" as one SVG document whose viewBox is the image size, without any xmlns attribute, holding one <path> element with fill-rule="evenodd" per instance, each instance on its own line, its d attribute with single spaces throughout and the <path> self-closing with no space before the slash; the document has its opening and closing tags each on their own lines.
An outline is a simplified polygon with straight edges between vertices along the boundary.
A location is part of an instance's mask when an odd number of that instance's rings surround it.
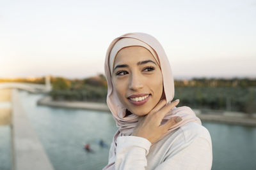
<svg viewBox="0 0 256 170">
<path fill-rule="evenodd" d="M 163 94 L 163 76 L 154 56 L 141 46 L 122 48 L 113 67 L 113 86 L 134 115 L 147 115 Z"/>
</svg>

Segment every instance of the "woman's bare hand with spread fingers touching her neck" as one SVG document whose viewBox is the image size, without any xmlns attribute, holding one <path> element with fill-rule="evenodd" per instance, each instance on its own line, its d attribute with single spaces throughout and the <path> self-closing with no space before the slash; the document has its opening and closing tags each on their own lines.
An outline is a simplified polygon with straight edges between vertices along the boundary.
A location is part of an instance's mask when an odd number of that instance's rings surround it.
<svg viewBox="0 0 256 170">
<path fill-rule="evenodd" d="M 170 129 L 173 125 L 180 122 L 182 118 L 173 117 L 168 120 L 165 124 L 161 125 L 161 122 L 170 110 L 177 106 L 179 100 L 173 101 L 172 103 L 166 104 L 166 100 L 163 99 L 151 110 L 147 115 L 139 117 L 138 124 L 132 132 L 132 136 L 138 136 L 141 138 L 148 139 L 150 143 L 156 143 L 165 132 Z"/>
</svg>

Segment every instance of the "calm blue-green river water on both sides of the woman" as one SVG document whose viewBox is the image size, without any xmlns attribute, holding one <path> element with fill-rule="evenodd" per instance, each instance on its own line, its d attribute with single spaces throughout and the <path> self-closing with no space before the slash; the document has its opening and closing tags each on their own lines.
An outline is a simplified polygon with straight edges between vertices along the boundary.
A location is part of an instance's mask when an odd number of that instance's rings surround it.
<svg viewBox="0 0 256 170">
<path fill-rule="evenodd" d="M 102 169 L 116 131 L 112 115 L 104 111 L 37 106 L 42 94 L 19 92 L 31 124 L 56 170 Z M 203 122 L 212 138 L 212 169 L 256 169 L 256 127 Z M 0 127 L 0 169 L 10 166 L 10 127 Z M 85 152 L 89 143 L 93 153 Z"/>
</svg>

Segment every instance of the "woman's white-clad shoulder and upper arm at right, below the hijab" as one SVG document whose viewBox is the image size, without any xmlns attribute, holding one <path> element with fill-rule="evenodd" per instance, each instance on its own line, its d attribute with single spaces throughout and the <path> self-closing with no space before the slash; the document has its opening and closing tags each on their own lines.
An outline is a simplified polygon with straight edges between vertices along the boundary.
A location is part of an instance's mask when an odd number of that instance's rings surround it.
<svg viewBox="0 0 256 170">
<path fill-rule="evenodd" d="M 155 150 L 160 155 L 159 169 L 208 170 L 212 166 L 211 136 L 204 126 L 195 122 L 184 124 L 168 134 L 163 145 L 158 145 Z"/>
</svg>

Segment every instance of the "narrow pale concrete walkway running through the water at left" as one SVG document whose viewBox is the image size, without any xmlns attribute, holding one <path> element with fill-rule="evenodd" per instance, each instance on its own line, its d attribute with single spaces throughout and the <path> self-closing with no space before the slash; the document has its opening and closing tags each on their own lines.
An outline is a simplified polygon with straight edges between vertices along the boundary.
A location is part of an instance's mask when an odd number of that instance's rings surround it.
<svg viewBox="0 0 256 170">
<path fill-rule="evenodd" d="M 53 170 L 16 89 L 12 90 L 12 109 L 13 170 Z"/>
</svg>

